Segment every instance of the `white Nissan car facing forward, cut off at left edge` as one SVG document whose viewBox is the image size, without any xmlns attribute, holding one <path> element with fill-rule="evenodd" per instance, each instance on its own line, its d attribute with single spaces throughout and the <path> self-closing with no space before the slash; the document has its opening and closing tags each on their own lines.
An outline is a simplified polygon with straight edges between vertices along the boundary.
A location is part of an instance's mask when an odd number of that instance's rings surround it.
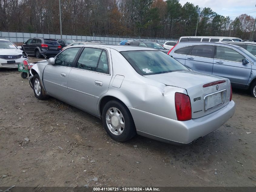
<svg viewBox="0 0 256 192">
<path fill-rule="evenodd" d="M 18 63 L 22 63 L 23 57 L 20 46 L 16 46 L 7 39 L 0 39 L 0 68 L 18 68 Z"/>
</svg>

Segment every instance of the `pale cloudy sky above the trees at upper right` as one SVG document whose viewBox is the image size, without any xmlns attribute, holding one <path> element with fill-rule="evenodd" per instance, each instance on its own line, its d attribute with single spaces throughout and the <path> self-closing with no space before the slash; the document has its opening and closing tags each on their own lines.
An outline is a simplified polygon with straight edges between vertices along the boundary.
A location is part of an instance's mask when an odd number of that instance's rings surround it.
<svg viewBox="0 0 256 192">
<path fill-rule="evenodd" d="M 247 13 L 254 18 L 256 16 L 256 1 L 254 0 L 180 0 L 181 5 L 186 2 L 198 5 L 200 8 L 210 7 L 219 15 L 232 17 Z M 231 19 L 234 20 L 235 17 Z"/>
</svg>

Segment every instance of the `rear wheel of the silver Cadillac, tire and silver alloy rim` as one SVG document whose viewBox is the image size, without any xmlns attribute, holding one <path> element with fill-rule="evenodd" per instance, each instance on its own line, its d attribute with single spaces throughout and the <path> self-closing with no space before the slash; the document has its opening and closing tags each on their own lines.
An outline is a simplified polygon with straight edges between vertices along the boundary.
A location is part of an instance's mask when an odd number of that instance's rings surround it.
<svg viewBox="0 0 256 192">
<path fill-rule="evenodd" d="M 103 126 L 114 140 L 124 142 L 136 135 L 136 128 L 128 108 L 121 102 L 111 100 L 102 111 Z"/>
</svg>

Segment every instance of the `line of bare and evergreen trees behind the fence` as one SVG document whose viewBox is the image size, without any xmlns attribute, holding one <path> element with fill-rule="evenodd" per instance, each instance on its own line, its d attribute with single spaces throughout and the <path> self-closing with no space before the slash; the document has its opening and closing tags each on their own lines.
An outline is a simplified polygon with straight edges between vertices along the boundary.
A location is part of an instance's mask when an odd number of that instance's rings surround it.
<svg viewBox="0 0 256 192">
<path fill-rule="evenodd" d="M 0 5 L 0 31 L 60 33 L 58 0 L 0 0 Z M 249 39 L 254 25 L 249 15 L 232 20 L 179 0 L 61 0 L 61 10 L 67 35 L 178 38 L 194 36 L 198 22 L 197 36 Z"/>
</svg>

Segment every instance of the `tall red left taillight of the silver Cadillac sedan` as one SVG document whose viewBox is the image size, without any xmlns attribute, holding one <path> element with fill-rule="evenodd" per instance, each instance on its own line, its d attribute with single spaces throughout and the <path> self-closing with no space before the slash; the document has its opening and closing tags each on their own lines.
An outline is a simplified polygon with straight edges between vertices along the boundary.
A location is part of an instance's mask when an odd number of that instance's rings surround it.
<svg viewBox="0 0 256 192">
<path fill-rule="evenodd" d="M 191 103 L 188 95 L 175 93 L 175 110 L 178 121 L 191 120 Z"/>
</svg>

